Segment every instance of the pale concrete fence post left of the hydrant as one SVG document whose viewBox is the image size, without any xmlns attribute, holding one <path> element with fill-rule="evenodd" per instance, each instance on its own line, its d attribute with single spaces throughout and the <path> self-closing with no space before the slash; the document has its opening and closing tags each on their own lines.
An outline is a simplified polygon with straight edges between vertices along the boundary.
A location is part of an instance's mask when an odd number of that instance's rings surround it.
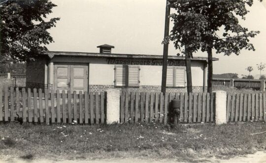
<svg viewBox="0 0 266 163">
<path fill-rule="evenodd" d="M 120 119 L 120 91 L 108 89 L 106 98 L 106 123 L 119 122 Z"/>
</svg>

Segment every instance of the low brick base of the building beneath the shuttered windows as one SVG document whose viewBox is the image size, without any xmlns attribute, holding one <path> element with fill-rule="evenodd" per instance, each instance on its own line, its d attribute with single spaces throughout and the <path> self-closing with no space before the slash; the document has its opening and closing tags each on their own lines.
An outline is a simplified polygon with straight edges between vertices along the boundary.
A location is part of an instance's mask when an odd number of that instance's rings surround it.
<svg viewBox="0 0 266 163">
<path fill-rule="evenodd" d="M 161 86 L 141 85 L 139 87 L 115 87 L 114 85 L 89 85 L 89 91 L 106 91 L 107 89 L 118 89 L 123 91 L 139 92 L 161 92 Z M 187 92 L 186 87 L 166 88 L 166 92 Z M 203 86 L 193 86 L 194 92 L 203 92 Z M 205 89 L 206 91 L 206 89 Z"/>
</svg>

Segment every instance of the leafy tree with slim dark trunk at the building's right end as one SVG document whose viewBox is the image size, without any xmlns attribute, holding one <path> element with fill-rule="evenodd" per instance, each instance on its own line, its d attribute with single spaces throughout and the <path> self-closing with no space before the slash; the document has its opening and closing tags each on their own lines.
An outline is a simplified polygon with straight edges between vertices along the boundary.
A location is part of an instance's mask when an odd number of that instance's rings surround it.
<svg viewBox="0 0 266 163">
<path fill-rule="evenodd" d="M 174 41 L 176 49 L 190 56 L 199 49 L 208 54 L 208 92 L 212 92 L 212 49 L 216 53 L 239 55 L 241 49 L 255 50 L 249 38 L 259 31 L 248 31 L 238 22 L 248 13 L 246 4 L 253 0 L 178 0 L 174 3 L 177 13 L 170 15 L 174 22 L 171 34 L 166 41 Z M 217 31 L 223 30 L 223 36 Z"/>
</svg>

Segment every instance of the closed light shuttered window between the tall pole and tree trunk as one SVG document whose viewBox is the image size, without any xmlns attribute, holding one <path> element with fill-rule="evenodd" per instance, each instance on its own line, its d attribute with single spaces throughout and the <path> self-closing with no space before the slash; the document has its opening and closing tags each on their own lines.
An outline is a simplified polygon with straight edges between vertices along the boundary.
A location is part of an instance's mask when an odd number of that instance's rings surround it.
<svg viewBox="0 0 266 163">
<path fill-rule="evenodd" d="M 185 85 L 186 85 L 186 68 L 168 66 L 166 74 L 166 86 L 185 87 Z"/>
</svg>

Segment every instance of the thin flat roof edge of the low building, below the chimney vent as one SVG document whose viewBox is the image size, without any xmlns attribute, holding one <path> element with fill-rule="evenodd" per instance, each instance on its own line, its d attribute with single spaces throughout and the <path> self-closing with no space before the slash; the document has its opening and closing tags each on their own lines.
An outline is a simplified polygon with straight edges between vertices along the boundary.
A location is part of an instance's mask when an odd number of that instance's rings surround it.
<svg viewBox="0 0 266 163">
<path fill-rule="evenodd" d="M 47 51 L 44 53 L 53 57 L 54 55 L 63 56 L 87 56 L 87 57 L 104 57 L 104 58 L 136 58 L 136 59 L 163 59 L 163 55 L 146 55 L 146 54 L 115 54 L 115 53 L 90 53 L 90 52 L 66 52 L 66 51 Z M 184 56 L 172 56 L 168 55 L 168 59 L 185 59 Z M 207 61 L 207 57 L 193 57 L 191 60 L 204 60 Z M 218 58 L 212 58 L 213 61 L 218 61 Z"/>
</svg>

